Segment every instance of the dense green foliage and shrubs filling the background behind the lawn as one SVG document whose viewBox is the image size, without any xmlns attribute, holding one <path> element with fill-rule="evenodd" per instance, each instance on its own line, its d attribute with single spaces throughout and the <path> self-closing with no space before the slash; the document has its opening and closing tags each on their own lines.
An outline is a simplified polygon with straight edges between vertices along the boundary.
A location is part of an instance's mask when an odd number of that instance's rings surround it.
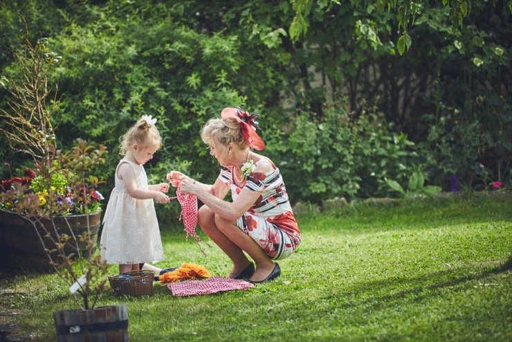
<svg viewBox="0 0 512 342">
<path fill-rule="evenodd" d="M 164 137 L 153 181 L 170 169 L 213 181 L 199 130 L 236 106 L 262 114 L 264 154 L 293 203 L 397 196 L 387 180 L 406 188 L 413 172 L 444 190 L 452 174 L 466 190 L 511 186 L 510 1 L 470 3 L 466 15 L 461 3 L 1 0 L 1 75 L 19 78 L 22 15 L 31 39 L 62 56 L 57 144 L 107 145 L 107 197 L 118 137 L 142 114 Z M 0 160 L 3 178 L 30 163 L 8 149 Z M 176 217 L 170 208 L 160 217 Z"/>
</svg>

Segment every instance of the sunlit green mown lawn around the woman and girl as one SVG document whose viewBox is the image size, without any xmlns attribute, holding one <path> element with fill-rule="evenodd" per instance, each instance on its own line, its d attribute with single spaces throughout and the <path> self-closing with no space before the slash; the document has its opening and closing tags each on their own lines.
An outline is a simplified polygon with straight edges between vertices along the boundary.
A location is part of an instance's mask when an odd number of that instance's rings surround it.
<svg viewBox="0 0 512 342">
<path fill-rule="evenodd" d="M 190 298 L 155 284 L 151 297 L 107 293 L 100 305 L 128 305 L 130 341 L 512 341 L 511 196 L 358 204 L 298 221 L 302 244 L 274 282 Z M 159 266 L 230 270 L 181 226 L 162 233 Z M 55 341 L 52 312 L 75 307 L 53 275 L 1 289 L 33 341 Z"/>
</svg>

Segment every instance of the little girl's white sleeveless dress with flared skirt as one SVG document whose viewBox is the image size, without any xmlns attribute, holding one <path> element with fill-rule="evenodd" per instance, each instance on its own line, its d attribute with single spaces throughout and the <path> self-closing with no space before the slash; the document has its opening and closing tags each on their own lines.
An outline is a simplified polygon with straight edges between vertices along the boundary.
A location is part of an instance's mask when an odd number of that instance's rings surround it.
<svg viewBox="0 0 512 342">
<path fill-rule="evenodd" d="M 100 255 L 109 264 L 137 264 L 163 260 L 163 246 L 153 199 L 134 199 L 118 177 L 122 163 L 128 163 L 136 175 L 138 188 L 147 189 L 143 165 L 121 159 L 116 168 L 113 188 L 103 217 Z"/>
</svg>

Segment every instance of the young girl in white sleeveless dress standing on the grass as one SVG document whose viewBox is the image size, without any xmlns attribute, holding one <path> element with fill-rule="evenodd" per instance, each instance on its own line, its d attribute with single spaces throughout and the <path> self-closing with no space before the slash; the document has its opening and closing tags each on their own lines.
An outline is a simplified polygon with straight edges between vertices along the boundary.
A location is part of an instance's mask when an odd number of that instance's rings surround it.
<svg viewBox="0 0 512 342">
<path fill-rule="evenodd" d="M 147 184 L 143 165 L 161 147 L 156 119 L 143 116 L 120 139 L 125 156 L 116 168 L 113 188 L 103 218 L 100 255 L 119 272 L 136 271 L 139 264 L 162 260 L 163 246 L 153 200 L 168 203 L 168 183 Z"/>
</svg>

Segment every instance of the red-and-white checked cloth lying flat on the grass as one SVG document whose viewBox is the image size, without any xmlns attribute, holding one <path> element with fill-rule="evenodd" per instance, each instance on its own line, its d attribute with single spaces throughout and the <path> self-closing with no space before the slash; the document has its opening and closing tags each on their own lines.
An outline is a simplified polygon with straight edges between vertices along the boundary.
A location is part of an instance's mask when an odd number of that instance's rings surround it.
<svg viewBox="0 0 512 342">
<path fill-rule="evenodd" d="M 253 283 L 241 279 L 213 276 L 206 280 L 185 280 L 167 284 L 172 296 L 186 297 L 200 294 L 215 294 L 221 291 L 246 290 L 255 287 Z"/>
</svg>

